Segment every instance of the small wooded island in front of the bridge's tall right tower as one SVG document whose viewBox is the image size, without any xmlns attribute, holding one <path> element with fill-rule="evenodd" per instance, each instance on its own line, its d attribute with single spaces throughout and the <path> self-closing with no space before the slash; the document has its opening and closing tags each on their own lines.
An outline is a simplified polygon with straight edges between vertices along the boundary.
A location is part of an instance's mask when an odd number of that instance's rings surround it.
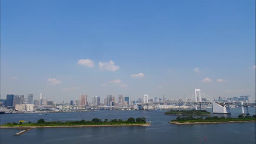
<svg viewBox="0 0 256 144">
<path fill-rule="evenodd" d="M 198 116 L 198 115 L 211 115 L 209 111 L 206 110 L 171 110 L 171 111 L 166 111 L 164 115 L 191 115 L 191 116 Z"/>
</svg>

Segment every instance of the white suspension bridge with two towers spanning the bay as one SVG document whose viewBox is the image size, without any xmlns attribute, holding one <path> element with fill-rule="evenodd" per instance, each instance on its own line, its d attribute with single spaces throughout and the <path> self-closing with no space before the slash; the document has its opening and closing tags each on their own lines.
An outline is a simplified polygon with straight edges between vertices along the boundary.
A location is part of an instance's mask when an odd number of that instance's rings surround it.
<svg viewBox="0 0 256 144">
<path fill-rule="evenodd" d="M 148 101 L 148 95 L 143 95 L 142 98 L 139 98 L 138 103 L 135 104 L 134 108 L 139 110 L 143 107 L 144 110 L 148 109 L 148 105 L 170 105 L 170 104 L 192 104 L 194 105 L 195 109 L 197 107 L 200 108 L 202 105 L 210 104 L 212 106 L 213 114 L 231 114 L 230 111 L 230 105 L 238 105 L 241 106 L 242 109 L 242 115 L 245 115 L 244 113 L 244 107 L 246 107 L 246 115 L 249 115 L 248 107 L 249 106 L 256 106 L 256 102 L 221 102 L 216 101 L 213 98 L 211 98 L 209 95 L 207 95 L 205 92 L 203 92 L 200 89 L 195 89 L 192 93 L 190 93 L 187 97 L 184 98 L 184 100 L 164 100 L 164 101 Z M 152 99 L 152 98 L 150 98 Z"/>
</svg>

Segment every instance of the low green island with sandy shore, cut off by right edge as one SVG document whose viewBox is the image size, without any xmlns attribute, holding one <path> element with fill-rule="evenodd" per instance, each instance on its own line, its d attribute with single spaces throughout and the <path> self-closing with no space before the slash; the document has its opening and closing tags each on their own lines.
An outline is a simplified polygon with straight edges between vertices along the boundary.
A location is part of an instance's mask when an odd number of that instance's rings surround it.
<svg viewBox="0 0 256 144">
<path fill-rule="evenodd" d="M 212 124 L 212 123 L 233 123 L 233 122 L 253 122 L 256 121 L 256 116 L 243 116 L 238 115 L 238 118 L 225 118 L 225 117 L 206 117 L 206 118 L 193 118 L 192 116 L 180 117 L 171 120 L 169 123 L 172 124 Z"/>
</svg>

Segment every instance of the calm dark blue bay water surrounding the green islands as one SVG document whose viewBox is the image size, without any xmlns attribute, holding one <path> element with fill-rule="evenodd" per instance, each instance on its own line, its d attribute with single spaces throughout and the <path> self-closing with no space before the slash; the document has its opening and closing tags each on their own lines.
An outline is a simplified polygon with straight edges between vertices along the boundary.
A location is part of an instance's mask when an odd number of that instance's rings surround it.
<svg viewBox="0 0 256 144">
<path fill-rule="evenodd" d="M 232 108 L 231 115 L 216 115 L 237 117 L 241 108 Z M 249 108 L 255 115 L 255 108 Z M 176 116 L 164 115 L 164 111 L 93 111 L 38 114 L 5 114 L 0 115 L 0 124 L 17 122 L 19 120 L 37 121 L 75 121 L 92 118 L 123 119 L 130 117 L 145 117 L 152 126 L 144 127 L 98 127 L 98 128 L 35 128 L 20 136 L 13 136 L 19 132 L 15 128 L 0 129 L 1 144 L 246 144 L 256 143 L 256 124 L 194 124 L 175 125 L 168 121 Z M 215 115 L 214 115 L 215 116 Z M 204 138 L 207 138 L 205 141 Z"/>
</svg>

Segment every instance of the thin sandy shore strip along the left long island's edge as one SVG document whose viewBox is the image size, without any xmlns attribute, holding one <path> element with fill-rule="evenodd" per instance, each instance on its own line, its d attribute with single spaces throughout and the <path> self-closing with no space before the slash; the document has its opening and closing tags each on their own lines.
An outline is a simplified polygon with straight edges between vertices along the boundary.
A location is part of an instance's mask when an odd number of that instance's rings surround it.
<svg viewBox="0 0 256 144">
<path fill-rule="evenodd" d="M 56 126 L 13 126 L 0 128 L 77 128 L 77 127 L 120 127 L 120 126 L 150 126 L 152 124 L 105 124 L 105 125 L 56 125 Z"/>
</svg>

